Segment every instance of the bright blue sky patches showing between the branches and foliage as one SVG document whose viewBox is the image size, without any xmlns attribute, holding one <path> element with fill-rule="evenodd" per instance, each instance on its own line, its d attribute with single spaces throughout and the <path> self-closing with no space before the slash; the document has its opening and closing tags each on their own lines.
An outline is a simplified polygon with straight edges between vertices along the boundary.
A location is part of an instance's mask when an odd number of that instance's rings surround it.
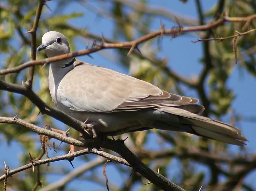
<svg viewBox="0 0 256 191">
<path fill-rule="evenodd" d="M 47 5 L 52 10 L 58 10 L 56 7 L 56 2 L 58 0 L 49 1 L 47 2 Z M 89 1 L 92 4 L 96 5 L 96 3 L 93 3 L 92 1 Z M 197 12 L 196 12 L 196 6 L 194 1 L 189 0 L 187 3 L 182 3 L 178 0 L 173 1 L 166 1 L 166 0 L 150 0 L 148 1 L 149 5 L 151 6 L 157 6 L 157 7 L 164 7 L 167 10 L 170 10 L 171 12 L 178 13 L 179 15 L 187 16 L 188 18 L 196 18 Z M 201 1 L 203 10 L 210 9 L 216 1 Z M 95 34 L 101 35 L 102 33 L 106 38 L 111 37 L 113 33 L 113 23 L 112 20 L 105 19 L 99 16 L 96 16 L 95 13 L 92 11 L 89 11 L 88 9 L 81 6 L 81 4 L 76 2 L 71 2 L 70 6 L 65 7 L 65 9 L 58 10 L 57 14 L 67 14 L 72 12 L 82 12 L 84 14 L 83 17 L 72 19 L 69 21 L 70 24 L 76 26 L 76 27 L 87 27 L 87 29 Z M 42 13 L 41 19 L 45 19 L 49 16 L 49 14 L 54 14 L 53 12 L 46 10 Z M 175 26 L 174 23 L 167 21 L 166 19 L 162 19 L 162 22 L 165 24 L 166 28 L 171 28 Z M 157 20 L 154 20 L 152 23 L 152 29 L 157 30 L 159 29 L 160 18 L 157 18 Z M 201 63 L 199 62 L 199 58 L 202 56 L 202 44 L 200 42 L 198 43 L 192 43 L 191 40 L 195 40 L 196 37 L 189 35 L 183 35 L 179 36 L 177 38 L 174 38 L 172 40 L 169 40 L 170 37 L 164 37 L 162 40 L 162 51 L 158 54 L 161 57 L 168 57 L 168 64 L 169 66 L 174 69 L 175 71 L 178 71 L 184 76 L 193 76 L 197 75 L 202 68 Z M 82 42 L 82 43 L 81 43 Z M 76 39 L 75 46 L 76 49 L 73 51 L 81 50 L 85 48 L 86 41 L 84 39 Z M 115 60 L 109 61 L 104 57 L 104 55 L 112 53 L 112 50 L 103 50 L 101 52 L 93 53 L 93 59 L 89 58 L 88 56 L 81 56 L 79 59 L 89 62 L 93 65 L 100 65 L 107 68 L 111 68 L 113 70 L 129 74 L 129 70 L 121 66 L 120 63 L 116 62 Z M 0 55 L 0 60 L 2 63 L 4 59 L 4 55 Z M 235 64 L 235 63 L 234 63 Z M 24 80 L 24 79 L 23 79 Z M 234 89 L 234 93 L 236 95 L 236 99 L 233 102 L 232 107 L 236 109 L 236 112 L 238 114 L 242 114 L 243 116 L 254 116 L 255 115 L 255 84 L 256 79 L 250 75 L 247 75 L 246 72 L 241 72 L 239 69 L 239 63 L 234 67 L 234 70 L 231 74 L 231 77 L 229 78 L 228 85 L 230 88 Z M 34 86 L 34 89 L 37 89 L 37 87 Z M 193 97 L 198 97 L 198 95 L 194 92 L 189 92 L 188 95 L 191 95 Z M 229 123 L 229 118 L 224 117 L 222 121 Z M 62 126 L 61 123 L 56 122 L 56 124 Z M 243 131 L 243 134 L 245 137 L 250 141 L 247 143 L 247 150 L 248 153 L 255 153 L 256 152 L 256 131 L 255 131 L 255 122 L 246 122 L 242 121 L 238 124 L 238 128 L 240 128 Z M 150 134 L 151 136 L 152 134 Z M 35 135 L 36 136 L 36 135 Z M 10 145 L 6 145 L 5 139 L 1 136 L 1 143 L 0 143 L 0 150 L 3 153 L 8 153 L 8 155 L 1 155 L 0 156 L 0 163 L 1 161 L 5 160 L 8 161 L 8 165 L 10 169 L 16 168 L 20 166 L 21 164 L 18 163 L 18 158 L 24 151 L 20 146 L 18 146 L 15 141 L 12 141 Z M 152 142 L 148 143 L 149 148 L 154 148 L 154 140 L 155 137 L 152 136 Z M 40 147 L 40 145 L 38 145 Z M 239 147 L 231 146 L 233 152 L 239 152 Z M 49 156 L 57 156 L 64 154 L 63 152 L 50 152 Z M 93 156 L 91 156 L 93 157 Z M 10 160 L 11 158 L 11 160 Z M 68 165 L 67 161 L 59 161 L 58 163 L 67 164 L 67 169 L 71 169 L 72 167 Z M 74 167 L 77 168 L 80 165 L 82 165 L 84 161 L 79 160 L 76 158 L 73 162 Z M 177 170 L 177 164 L 178 162 L 174 160 L 173 163 L 170 165 L 170 172 L 173 172 Z M 2 163 L 3 165 L 3 163 Z M 52 164 L 53 166 L 53 164 Z M 204 171 L 206 170 L 204 166 L 198 165 L 199 170 Z M 154 169 L 156 170 L 156 169 Z M 99 174 L 102 175 L 102 166 L 97 169 L 99 171 Z M 88 174 L 88 173 L 86 173 Z M 117 185 L 119 182 L 122 182 L 124 179 L 128 179 L 128 177 L 121 176 L 115 168 L 112 167 L 111 164 L 107 165 L 107 175 L 109 181 L 114 181 Z M 103 175 L 102 175 L 103 177 Z M 51 175 L 49 176 L 49 181 L 54 182 L 61 178 L 61 176 L 58 175 Z M 256 173 L 253 172 L 249 174 L 249 176 L 246 177 L 246 182 L 250 185 L 253 185 L 254 188 L 256 187 L 256 183 L 254 183 L 254 180 L 256 179 Z M 106 190 L 102 186 L 96 185 L 96 184 L 89 184 L 88 181 L 81 181 L 81 180 L 74 180 L 71 183 L 68 184 L 67 188 L 77 188 L 77 189 L 84 189 L 87 188 L 88 190 L 94 189 L 102 189 Z M 136 186 L 133 188 L 133 190 L 136 190 Z"/>
</svg>

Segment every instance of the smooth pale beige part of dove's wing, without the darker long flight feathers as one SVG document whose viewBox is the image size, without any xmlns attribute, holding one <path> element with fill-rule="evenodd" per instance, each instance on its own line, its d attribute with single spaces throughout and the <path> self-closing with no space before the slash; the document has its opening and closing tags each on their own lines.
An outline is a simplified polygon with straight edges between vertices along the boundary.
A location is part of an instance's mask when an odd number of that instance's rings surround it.
<svg viewBox="0 0 256 191">
<path fill-rule="evenodd" d="M 75 111 L 112 112 L 126 101 L 162 94 L 161 89 L 145 81 L 80 62 L 59 83 L 57 100 Z"/>
</svg>

